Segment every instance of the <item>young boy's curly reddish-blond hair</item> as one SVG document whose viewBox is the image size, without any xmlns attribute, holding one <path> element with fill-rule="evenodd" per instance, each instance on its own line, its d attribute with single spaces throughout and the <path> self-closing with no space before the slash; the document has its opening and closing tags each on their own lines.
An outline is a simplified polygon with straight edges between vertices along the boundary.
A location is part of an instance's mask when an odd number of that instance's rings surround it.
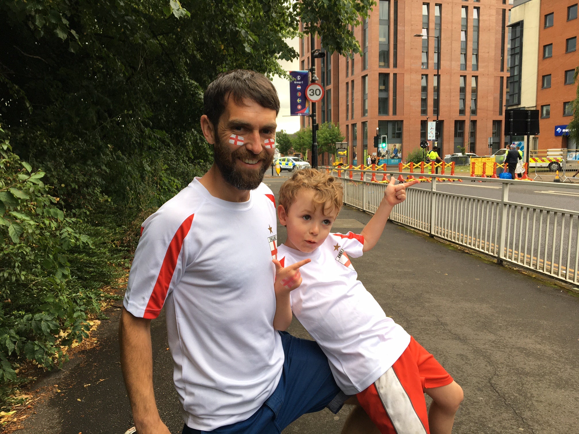
<svg viewBox="0 0 579 434">
<path fill-rule="evenodd" d="M 330 208 L 330 212 L 333 209 L 340 212 L 340 209 L 342 209 L 342 183 L 325 172 L 305 168 L 295 172 L 280 187 L 279 204 L 283 205 L 285 212 L 289 211 L 291 204 L 294 203 L 301 189 L 314 190 L 316 192 L 314 194 L 314 202 L 316 205 L 323 206 L 324 210 Z"/>
</svg>

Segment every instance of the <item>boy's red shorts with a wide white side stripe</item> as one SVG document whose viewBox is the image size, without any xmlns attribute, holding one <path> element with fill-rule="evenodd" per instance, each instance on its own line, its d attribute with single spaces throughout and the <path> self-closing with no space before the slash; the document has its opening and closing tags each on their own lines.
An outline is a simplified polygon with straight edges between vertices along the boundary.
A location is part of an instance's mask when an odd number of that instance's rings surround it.
<svg viewBox="0 0 579 434">
<path fill-rule="evenodd" d="M 394 365 L 356 396 L 381 433 L 430 434 L 424 389 L 452 377 L 413 337 Z"/>
</svg>

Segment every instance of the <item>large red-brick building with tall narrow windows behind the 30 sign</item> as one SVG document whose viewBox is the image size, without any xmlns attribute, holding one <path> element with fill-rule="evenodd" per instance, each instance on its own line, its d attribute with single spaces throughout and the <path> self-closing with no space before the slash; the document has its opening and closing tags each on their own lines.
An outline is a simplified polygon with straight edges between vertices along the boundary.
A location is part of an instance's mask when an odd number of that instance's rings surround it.
<svg viewBox="0 0 579 434">
<path fill-rule="evenodd" d="M 438 107 L 441 156 L 459 152 L 460 146 L 478 155 L 498 149 L 504 140 L 509 0 L 377 3 L 354 30 L 364 56 L 334 53 L 316 64 L 326 90 L 317 104 L 318 123 L 340 124 L 349 142 L 349 162 L 353 151 L 358 164 L 362 156 L 376 152 L 377 128 L 404 155 L 419 148 Z M 300 44 L 302 70 L 310 67 L 310 51 L 305 38 Z M 303 117 L 301 124 L 309 126 L 310 118 Z M 328 163 L 328 156 L 319 162 Z"/>
</svg>

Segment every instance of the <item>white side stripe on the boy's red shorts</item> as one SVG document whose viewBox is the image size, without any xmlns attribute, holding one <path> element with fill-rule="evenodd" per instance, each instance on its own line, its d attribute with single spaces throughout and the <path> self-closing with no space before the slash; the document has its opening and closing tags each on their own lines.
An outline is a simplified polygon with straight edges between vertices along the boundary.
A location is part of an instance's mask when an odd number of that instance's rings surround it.
<svg viewBox="0 0 579 434">
<path fill-rule="evenodd" d="M 416 414 L 408 393 L 392 367 L 382 374 L 374 385 L 397 434 L 426 434 L 426 429 Z"/>
</svg>

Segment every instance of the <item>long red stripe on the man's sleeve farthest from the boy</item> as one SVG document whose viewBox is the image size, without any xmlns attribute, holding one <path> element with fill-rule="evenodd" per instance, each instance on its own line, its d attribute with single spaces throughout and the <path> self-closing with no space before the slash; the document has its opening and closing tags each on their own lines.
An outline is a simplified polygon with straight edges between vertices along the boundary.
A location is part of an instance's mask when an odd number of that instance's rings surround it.
<svg viewBox="0 0 579 434">
<path fill-rule="evenodd" d="M 161 270 L 159 271 L 157 281 L 155 282 L 155 287 L 153 288 L 151 297 L 149 297 L 149 302 L 146 305 L 143 318 L 157 318 L 157 316 L 159 316 L 160 310 L 163 308 L 165 297 L 167 297 L 167 291 L 169 289 L 169 285 L 171 284 L 171 279 L 173 279 L 175 267 L 177 267 L 177 259 L 179 258 L 179 253 L 181 252 L 183 240 L 185 240 L 185 237 L 189 233 L 189 229 L 191 229 L 191 223 L 193 222 L 194 215 L 195 214 L 191 214 L 188 218 L 185 219 L 183 223 L 181 223 L 181 226 L 179 226 L 179 229 L 177 229 L 177 232 L 173 236 L 173 240 L 171 240 L 169 243 L 167 253 L 165 253 L 165 258 L 163 259 Z"/>
</svg>

